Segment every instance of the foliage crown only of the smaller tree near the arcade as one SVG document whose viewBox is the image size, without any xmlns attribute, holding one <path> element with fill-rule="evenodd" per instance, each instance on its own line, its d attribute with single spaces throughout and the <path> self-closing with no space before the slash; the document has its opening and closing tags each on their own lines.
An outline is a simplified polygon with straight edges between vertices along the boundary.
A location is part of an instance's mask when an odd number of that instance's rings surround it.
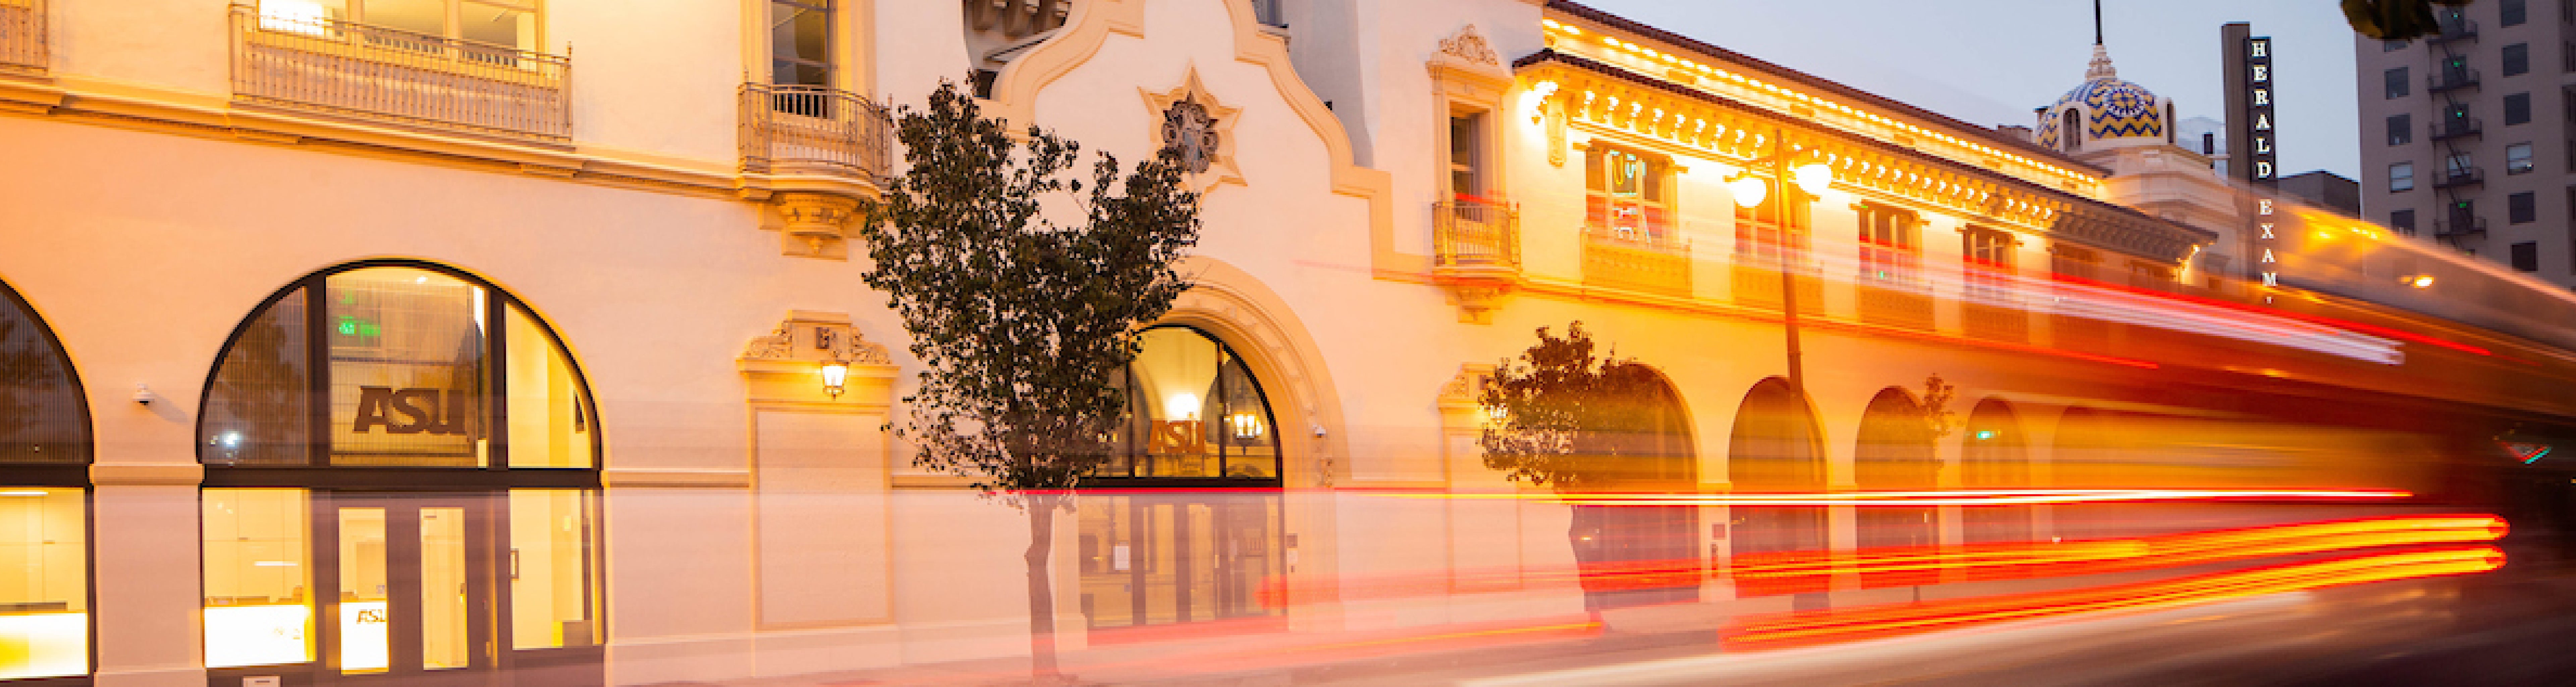
<svg viewBox="0 0 2576 687">
<path fill-rule="evenodd" d="M 1654 437 L 1664 381 L 1631 358 L 1592 355 L 1582 322 L 1564 337 L 1538 327 L 1538 345 L 1494 365 L 1484 386 L 1484 466 L 1512 481 L 1556 489 L 1605 486 L 1656 461 Z"/>
</svg>

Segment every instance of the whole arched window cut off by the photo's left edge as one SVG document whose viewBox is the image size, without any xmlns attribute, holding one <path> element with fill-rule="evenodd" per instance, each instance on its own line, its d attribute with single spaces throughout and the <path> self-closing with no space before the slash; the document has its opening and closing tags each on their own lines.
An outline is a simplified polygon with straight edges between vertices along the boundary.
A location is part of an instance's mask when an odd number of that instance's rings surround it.
<svg viewBox="0 0 2576 687">
<path fill-rule="evenodd" d="M 0 283 L 0 679 L 90 674 L 88 463 L 80 376 Z"/>
</svg>

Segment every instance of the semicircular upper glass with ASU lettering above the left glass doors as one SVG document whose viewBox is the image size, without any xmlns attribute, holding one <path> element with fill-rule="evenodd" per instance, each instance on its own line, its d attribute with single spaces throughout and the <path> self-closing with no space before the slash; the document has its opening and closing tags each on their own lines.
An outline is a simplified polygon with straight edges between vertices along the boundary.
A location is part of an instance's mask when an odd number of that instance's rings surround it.
<svg viewBox="0 0 2576 687">
<path fill-rule="evenodd" d="M 322 427 L 314 399 L 330 404 Z M 224 350 L 201 422 L 211 466 L 307 466 L 314 445 L 330 466 L 420 468 L 502 455 L 590 468 L 598 453 L 582 376 L 554 334 L 500 291 L 425 268 L 340 270 L 270 301 Z"/>
</svg>

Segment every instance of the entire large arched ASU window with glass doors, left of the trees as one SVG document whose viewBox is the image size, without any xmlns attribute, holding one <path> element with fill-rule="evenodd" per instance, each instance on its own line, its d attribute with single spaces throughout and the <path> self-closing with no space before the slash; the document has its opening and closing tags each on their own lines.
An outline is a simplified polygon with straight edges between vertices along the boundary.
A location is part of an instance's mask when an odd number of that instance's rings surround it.
<svg viewBox="0 0 2576 687">
<path fill-rule="evenodd" d="M 206 666 L 598 682 L 600 432 L 526 304 L 322 270 L 234 329 L 198 414 Z"/>
</svg>

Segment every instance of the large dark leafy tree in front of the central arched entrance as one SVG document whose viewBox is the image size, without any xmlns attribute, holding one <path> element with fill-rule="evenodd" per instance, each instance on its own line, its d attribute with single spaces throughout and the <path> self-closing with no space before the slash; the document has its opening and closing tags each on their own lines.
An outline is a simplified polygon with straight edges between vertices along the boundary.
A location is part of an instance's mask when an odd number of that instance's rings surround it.
<svg viewBox="0 0 2576 687">
<path fill-rule="evenodd" d="M 1079 144 L 1038 126 L 1012 142 L 956 82 L 899 116 L 909 170 L 860 226 L 876 262 L 866 280 L 922 360 L 894 435 L 920 450 L 914 466 L 969 476 L 1028 512 L 1030 669 L 1061 682 L 1054 515 L 1110 458 L 1126 409 L 1110 373 L 1136 358 L 1139 324 L 1190 288 L 1175 262 L 1198 244 L 1198 193 L 1172 149 L 1126 178 L 1110 154 L 1090 183 L 1072 178 Z M 1048 219 L 1041 201 L 1056 193 L 1079 224 Z"/>
</svg>

